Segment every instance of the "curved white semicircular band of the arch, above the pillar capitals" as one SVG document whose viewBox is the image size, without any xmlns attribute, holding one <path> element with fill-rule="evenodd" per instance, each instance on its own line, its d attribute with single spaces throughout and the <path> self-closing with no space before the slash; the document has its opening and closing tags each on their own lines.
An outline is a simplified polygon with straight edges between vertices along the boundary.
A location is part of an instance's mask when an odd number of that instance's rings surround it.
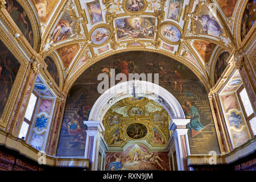
<svg viewBox="0 0 256 182">
<path fill-rule="evenodd" d="M 126 97 L 133 97 L 134 83 L 137 85 L 136 88 L 138 88 L 136 93 L 138 97 L 147 97 L 158 102 L 167 110 L 172 119 L 185 119 L 179 102 L 162 86 L 148 81 L 131 80 L 112 86 L 112 88 L 101 94 L 90 111 L 89 121 L 102 121 L 106 111 L 115 102 Z M 106 104 L 102 105 L 102 103 Z"/>
</svg>

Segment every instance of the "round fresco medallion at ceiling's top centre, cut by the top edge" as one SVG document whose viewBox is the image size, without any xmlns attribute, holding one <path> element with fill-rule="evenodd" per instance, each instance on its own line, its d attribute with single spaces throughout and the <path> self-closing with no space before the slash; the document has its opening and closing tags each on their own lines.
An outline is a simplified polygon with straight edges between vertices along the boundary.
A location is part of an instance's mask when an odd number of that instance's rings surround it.
<svg viewBox="0 0 256 182">
<path fill-rule="evenodd" d="M 126 0 L 123 5 L 127 11 L 131 12 L 142 11 L 147 7 L 144 0 Z"/>
</svg>

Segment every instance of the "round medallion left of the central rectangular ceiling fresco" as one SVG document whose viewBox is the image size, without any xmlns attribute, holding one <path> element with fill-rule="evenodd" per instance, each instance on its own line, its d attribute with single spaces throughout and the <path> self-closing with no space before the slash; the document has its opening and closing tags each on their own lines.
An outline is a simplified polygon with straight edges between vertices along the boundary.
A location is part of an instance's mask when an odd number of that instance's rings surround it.
<svg viewBox="0 0 256 182">
<path fill-rule="evenodd" d="M 95 45 L 106 43 L 110 38 L 110 30 L 108 27 L 98 27 L 90 35 L 90 40 Z"/>
</svg>

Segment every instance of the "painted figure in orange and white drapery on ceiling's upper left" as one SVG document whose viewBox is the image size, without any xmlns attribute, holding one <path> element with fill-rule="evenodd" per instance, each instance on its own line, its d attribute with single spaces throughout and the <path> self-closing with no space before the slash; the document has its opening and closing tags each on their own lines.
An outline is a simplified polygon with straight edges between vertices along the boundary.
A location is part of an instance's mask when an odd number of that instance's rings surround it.
<svg viewBox="0 0 256 182">
<path fill-rule="evenodd" d="M 64 19 L 59 20 L 59 23 L 57 23 L 51 36 L 53 42 L 59 42 L 60 40 L 67 39 L 68 34 L 71 34 L 71 37 L 75 36 L 76 33 L 74 34 L 72 30 L 72 26 L 74 23 L 74 20 L 72 20 L 70 23 L 68 23 L 68 21 Z"/>
</svg>

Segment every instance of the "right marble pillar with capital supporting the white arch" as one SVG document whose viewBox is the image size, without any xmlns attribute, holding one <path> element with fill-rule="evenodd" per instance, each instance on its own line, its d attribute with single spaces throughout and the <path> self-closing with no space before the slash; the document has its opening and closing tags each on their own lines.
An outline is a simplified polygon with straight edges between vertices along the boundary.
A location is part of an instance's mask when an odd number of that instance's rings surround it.
<svg viewBox="0 0 256 182">
<path fill-rule="evenodd" d="M 179 171 L 188 171 L 186 157 L 190 155 L 188 142 L 187 123 L 190 119 L 172 119 L 169 130 L 173 131 L 172 136 L 175 139 L 175 150 L 177 156 L 177 167 Z"/>
</svg>

